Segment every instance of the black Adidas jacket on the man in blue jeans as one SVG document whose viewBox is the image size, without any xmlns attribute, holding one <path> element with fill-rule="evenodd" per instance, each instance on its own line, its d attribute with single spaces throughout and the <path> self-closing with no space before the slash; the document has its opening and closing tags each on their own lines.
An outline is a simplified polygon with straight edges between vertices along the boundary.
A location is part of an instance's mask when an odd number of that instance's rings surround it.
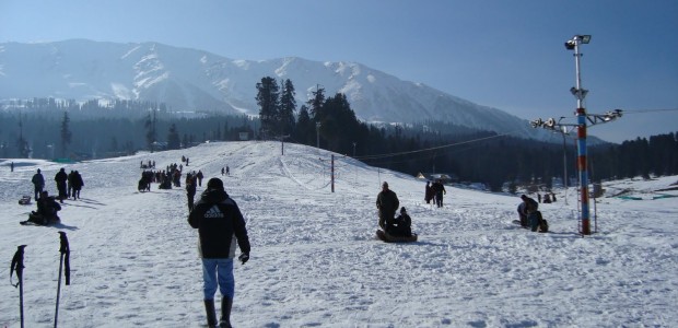
<svg viewBox="0 0 678 328">
<path fill-rule="evenodd" d="M 204 190 L 188 223 L 198 230 L 202 258 L 234 258 L 236 242 L 242 253 L 249 254 L 245 219 L 226 191 Z"/>
</svg>

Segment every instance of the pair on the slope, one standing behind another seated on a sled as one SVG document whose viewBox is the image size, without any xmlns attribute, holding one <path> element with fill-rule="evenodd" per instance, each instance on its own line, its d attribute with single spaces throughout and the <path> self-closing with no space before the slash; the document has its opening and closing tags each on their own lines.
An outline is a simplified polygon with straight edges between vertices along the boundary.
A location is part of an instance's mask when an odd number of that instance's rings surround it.
<svg viewBox="0 0 678 328">
<path fill-rule="evenodd" d="M 382 184 L 382 191 L 376 196 L 376 208 L 379 211 L 378 225 L 391 236 L 409 237 L 412 235 L 412 219 L 405 207 L 400 208 L 400 214 L 396 212 L 400 201 L 396 192 L 388 188 L 388 183 Z"/>
</svg>

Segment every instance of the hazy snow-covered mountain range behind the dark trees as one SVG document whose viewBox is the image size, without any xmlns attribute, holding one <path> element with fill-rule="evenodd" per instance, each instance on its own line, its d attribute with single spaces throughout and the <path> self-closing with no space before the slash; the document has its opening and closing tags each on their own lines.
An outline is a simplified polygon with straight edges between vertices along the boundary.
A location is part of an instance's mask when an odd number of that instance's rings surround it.
<svg viewBox="0 0 678 328">
<path fill-rule="evenodd" d="M 290 79 L 299 105 L 318 86 L 328 96 L 341 92 L 364 121 L 436 120 L 499 133 L 552 138 L 500 109 L 356 62 L 296 57 L 233 60 L 157 43 L 72 39 L 0 44 L 0 101 L 48 96 L 75 101 L 122 98 L 165 103 L 176 112 L 256 115 L 256 83 L 264 77 Z"/>
</svg>

